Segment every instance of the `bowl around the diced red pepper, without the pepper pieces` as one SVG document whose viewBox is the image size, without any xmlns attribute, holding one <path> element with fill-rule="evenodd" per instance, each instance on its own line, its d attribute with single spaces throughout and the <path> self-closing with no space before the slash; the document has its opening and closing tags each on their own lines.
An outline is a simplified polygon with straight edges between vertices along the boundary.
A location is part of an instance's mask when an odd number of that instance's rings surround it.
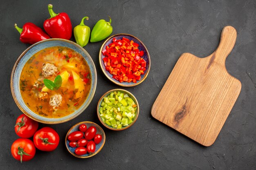
<svg viewBox="0 0 256 170">
<path fill-rule="evenodd" d="M 137 80 L 137 83 L 133 83 L 133 82 L 119 82 L 116 79 L 112 78 L 112 75 L 106 71 L 106 68 L 104 66 L 104 62 L 103 62 L 103 58 L 105 57 L 102 54 L 102 50 L 104 50 L 106 48 L 106 46 L 108 46 L 110 43 L 112 43 L 113 38 L 116 38 L 117 40 L 122 39 L 123 37 L 128 38 L 129 40 L 133 40 L 134 42 L 136 42 L 137 44 L 139 44 L 139 51 L 144 51 L 144 55 L 142 56 L 142 58 L 146 61 L 146 71 L 144 71 L 144 75 L 141 75 L 141 79 Z M 142 83 L 146 77 L 148 76 L 149 70 L 150 70 L 150 56 L 148 53 L 148 50 L 146 48 L 146 46 L 141 42 L 141 40 L 139 40 L 137 37 L 130 35 L 130 34 L 116 34 L 116 35 L 112 35 L 110 38 L 108 38 L 101 46 L 101 49 L 99 51 L 99 64 L 101 66 L 101 70 L 103 71 L 103 73 L 106 75 L 106 77 L 113 83 L 119 85 L 119 86 L 123 86 L 123 87 L 131 87 L 131 86 L 136 86 L 140 83 Z"/>
</svg>

